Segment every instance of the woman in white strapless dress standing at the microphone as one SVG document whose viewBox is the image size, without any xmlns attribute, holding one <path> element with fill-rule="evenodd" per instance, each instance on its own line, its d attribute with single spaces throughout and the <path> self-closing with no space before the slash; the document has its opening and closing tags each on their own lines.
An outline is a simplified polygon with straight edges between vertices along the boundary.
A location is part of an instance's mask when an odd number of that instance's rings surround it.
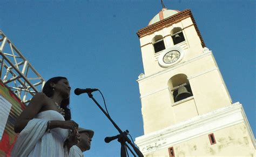
<svg viewBox="0 0 256 157">
<path fill-rule="evenodd" d="M 16 121 L 20 134 L 11 156 L 68 156 L 80 141 L 78 124 L 70 120 L 70 89 L 64 77 L 46 81 Z"/>
</svg>

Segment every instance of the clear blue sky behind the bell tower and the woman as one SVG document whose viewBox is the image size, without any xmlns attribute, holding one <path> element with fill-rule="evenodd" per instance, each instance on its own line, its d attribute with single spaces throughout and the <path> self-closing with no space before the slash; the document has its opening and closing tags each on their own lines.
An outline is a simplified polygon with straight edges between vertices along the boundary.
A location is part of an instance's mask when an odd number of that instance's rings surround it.
<svg viewBox="0 0 256 157">
<path fill-rule="evenodd" d="M 164 0 L 168 9 L 191 9 L 213 51 L 233 103 L 239 101 L 255 124 L 255 1 Z M 4 1 L 0 29 L 43 76 L 68 77 L 76 87 L 99 88 L 109 113 L 133 138 L 143 135 L 136 80 L 143 71 L 136 32 L 161 10 L 160 0 Z M 98 92 L 95 98 L 103 105 Z M 72 118 L 95 130 L 86 156 L 120 156 L 118 132 L 84 95 L 71 94 Z"/>
</svg>

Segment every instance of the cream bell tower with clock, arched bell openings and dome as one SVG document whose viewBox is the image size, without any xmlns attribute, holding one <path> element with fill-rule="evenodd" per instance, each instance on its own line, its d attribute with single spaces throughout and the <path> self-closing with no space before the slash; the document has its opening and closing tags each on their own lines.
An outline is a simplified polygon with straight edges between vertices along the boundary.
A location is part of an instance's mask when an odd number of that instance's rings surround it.
<svg viewBox="0 0 256 157">
<path fill-rule="evenodd" d="M 239 147 L 249 155 L 255 153 L 242 105 L 232 104 L 192 12 L 163 8 L 137 35 L 144 67 L 137 80 L 144 135 L 136 138 L 136 144 L 144 155 L 223 155 L 233 148 L 218 149 L 221 138 L 227 139 L 226 144 L 228 137 L 247 139 L 248 146 Z M 235 153 L 241 154 L 230 155 Z"/>
</svg>

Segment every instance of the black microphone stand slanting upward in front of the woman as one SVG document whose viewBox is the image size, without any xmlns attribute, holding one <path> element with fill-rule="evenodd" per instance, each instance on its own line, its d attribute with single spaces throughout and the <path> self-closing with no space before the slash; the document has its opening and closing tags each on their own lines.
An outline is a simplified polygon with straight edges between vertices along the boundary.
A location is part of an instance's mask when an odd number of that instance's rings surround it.
<svg viewBox="0 0 256 157">
<path fill-rule="evenodd" d="M 121 157 L 126 157 L 126 148 L 128 148 L 130 150 L 130 152 L 134 155 L 134 157 L 136 157 L 136 155 L 133 153 L 132 149 L 126 144 L 126 142 L 128 142 L 128 144 L 130 144 L 134 150 L 134 152 L 139 156 L 139 157 L 144 157 L 142 152 L 139 151 L 139 149 L 134 146 L 131 142 L 131 140 L 127 137 L 127 133 L 123 132 L 118 126 L 117 124 L 111 119 L 111 117 L 109 116 L 109 114 L 106 113 L 106 111 L 102 108 L 102 106 L 99 105 L 99 103 L 96 101 L 95 98 L 93 98 L 92 92 L 88 92 L 87 93 L 89 98 L 91 98 L 95 104 L 100 108 L 100 110 L 102 110 L 102 112 L 106 115 L 107 118 L 109 118 L 109 120 L 112 122 L 113 126 L 117 129 L 117 131 L 120 134 L 120 137 L 118 138 L 118 142 L 120 142 L 121 144 Z"/>
</svg>

